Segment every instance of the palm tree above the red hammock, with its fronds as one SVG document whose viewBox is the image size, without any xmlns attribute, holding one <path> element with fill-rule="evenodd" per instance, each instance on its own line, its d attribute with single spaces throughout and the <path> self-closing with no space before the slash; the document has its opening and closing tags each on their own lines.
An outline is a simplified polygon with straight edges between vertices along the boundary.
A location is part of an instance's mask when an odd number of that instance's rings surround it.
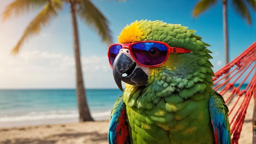
<svg viewBox="0 0 256 144">
<path fill-rule="evenodd" d="M 198 17 L 202 12 L 216 4 L 217 0 L 200 0 L 193 10 L 193 16 Z M 255 0 L 231 0 L 232 6 L 236 12 L 251 25 L 252 20 L 247 5 L 255 9 Z M 223 35 L 225 43 L 225 62 L 229 63 L 229 40 L 228 40 L 228 22 L 227 22 L 227 3 L 228 0 L 222 0 L 222 16 L 223 16 Z"/>
</svg>

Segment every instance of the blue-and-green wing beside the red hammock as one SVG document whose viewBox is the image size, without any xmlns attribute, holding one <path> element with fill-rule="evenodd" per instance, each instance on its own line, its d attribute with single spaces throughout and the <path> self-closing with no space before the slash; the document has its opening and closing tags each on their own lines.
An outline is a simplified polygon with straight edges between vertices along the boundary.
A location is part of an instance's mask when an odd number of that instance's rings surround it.
<svg viewBox="0 0 256 144">
<path fill-rule="evenodd" d="M 228 108 L 217 92 L 210 97 L 209 110 L 216 144 L 231 144 Z"/>
</svg>

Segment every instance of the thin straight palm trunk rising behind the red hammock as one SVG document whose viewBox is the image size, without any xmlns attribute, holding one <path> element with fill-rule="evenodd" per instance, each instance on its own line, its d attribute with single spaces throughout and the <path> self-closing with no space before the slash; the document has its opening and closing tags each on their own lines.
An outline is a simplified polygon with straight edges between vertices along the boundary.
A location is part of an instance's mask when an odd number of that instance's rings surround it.
<svg viewBox="0 0 256 144">
<path fill-rule="evenodd" d="M 225 64 L 229 63 L 229 39 L 228 39 L 228 29 L 227 29 L 227 0 L 222 0 L 223 7 L 223 35 L 225 44 Z M 226 80 L 228 76 L 226 77 Z"/>
</svg>

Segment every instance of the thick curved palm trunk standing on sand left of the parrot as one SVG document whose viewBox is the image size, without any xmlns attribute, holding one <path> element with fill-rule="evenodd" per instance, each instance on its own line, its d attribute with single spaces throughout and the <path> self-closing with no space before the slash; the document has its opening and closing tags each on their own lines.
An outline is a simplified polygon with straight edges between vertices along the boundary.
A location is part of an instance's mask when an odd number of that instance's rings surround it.
<svg viewBox="0 0 256 144">
<path fill-rule="evenodd" d="M 76 61 L 76 98 L 79 111 L 79 122 L 92 121 L 90 111 L 86 102 L 85 88 L 83 85 L 83 74 L 80 61 L 79 37 L 77 31 L 75 3 L 70 1 L 72 15 L 73 40 L 74 40 L 74 57 Z"/>
</svg>

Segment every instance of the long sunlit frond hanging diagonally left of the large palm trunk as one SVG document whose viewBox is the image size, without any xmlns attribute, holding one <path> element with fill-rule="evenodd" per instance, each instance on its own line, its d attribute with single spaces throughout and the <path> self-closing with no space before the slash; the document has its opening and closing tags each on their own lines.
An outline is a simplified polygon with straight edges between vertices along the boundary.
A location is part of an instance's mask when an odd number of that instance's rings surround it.
<svg viewBox="0 0 256 144">
<path fill-rule="evenodd" d="M 36 35 L 40 32 L 42 26 L 45 26 L 49 23 L 50 18 L 57 15 L 57 10 L 62 8 L 61 0 L 50 0 L 49 3 L 43 8 L 38 15 L 32 20 L 27 28 L 25 29 L 22 37 L 16 44 L 16 46 L 12 49 L 12 54 L 17 54 L 20 50 L 21 45 L 24 43 L 26 39 L 31 35 Z"/>
</svg>

